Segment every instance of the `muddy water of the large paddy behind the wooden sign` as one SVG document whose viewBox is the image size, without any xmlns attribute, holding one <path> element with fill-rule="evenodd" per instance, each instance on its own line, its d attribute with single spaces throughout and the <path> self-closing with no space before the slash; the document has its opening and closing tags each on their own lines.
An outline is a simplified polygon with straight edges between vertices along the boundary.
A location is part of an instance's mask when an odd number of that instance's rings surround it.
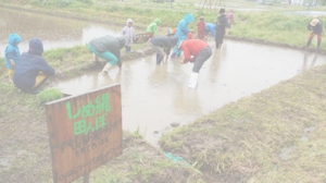
<svg viewBox="0 0 326 183">
<path fill-rule="evenodd" d="M 226 103 L 326 63 L 325 56 L 234 40 L 226 40 L 221 51 L 213 50 L 200 71 L 196 89 L 187 87 L 192 64 L 167 60 L 156 65 L 154 56 L 125 61 L 122 71 L 115 68 L 109 77 L 86 73 L 55 87 L 79 94 L 121 84 L 124 130 L 134 132 L 139 127 L 146 139 L 155 145 L 172 123 L 192 122 Z"/>
</svg>

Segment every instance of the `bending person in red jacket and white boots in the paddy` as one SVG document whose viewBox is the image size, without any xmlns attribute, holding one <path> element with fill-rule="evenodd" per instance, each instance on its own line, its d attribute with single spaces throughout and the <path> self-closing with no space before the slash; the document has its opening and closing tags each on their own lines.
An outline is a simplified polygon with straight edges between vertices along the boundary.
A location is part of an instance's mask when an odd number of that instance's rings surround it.
<svg viewBox="0 0 326 183">
<path fill-rule="evenodd" d="M 200 39 L 184 40 L 180 42 L 179 49 L 184 51 L 185 56 L 181 63 L 193 62 L 188 87 L 196 88 L 199 71 L 203 63 L 212 56 L 212 49 L 205 41 Z"/>
</svg>

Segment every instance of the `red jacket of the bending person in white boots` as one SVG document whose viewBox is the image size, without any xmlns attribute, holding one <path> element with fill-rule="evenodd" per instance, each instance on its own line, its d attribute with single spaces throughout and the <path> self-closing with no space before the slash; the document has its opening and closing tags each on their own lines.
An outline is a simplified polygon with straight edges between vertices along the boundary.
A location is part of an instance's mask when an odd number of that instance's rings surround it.
<svg viewBox="0 0 326 183">
<path fill-rule="evenodd" d="M 202 41 L 200 39 L 186 39 L 181 42 L 181 50 L 185 54 L 184 63 L 187 62 L 193 62 L 197 58 L 197 54 L 205 47 L 209 46 L 205 41 Z M 191 59 L 190 56 L 193 58 Z"/>
</svg>

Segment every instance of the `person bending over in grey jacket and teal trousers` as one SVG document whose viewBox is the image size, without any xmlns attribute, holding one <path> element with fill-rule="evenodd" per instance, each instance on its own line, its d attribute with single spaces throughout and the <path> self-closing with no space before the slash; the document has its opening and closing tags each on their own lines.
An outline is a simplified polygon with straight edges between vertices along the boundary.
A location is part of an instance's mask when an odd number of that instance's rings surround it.
<svg viewBox="0 0 326 183">
<path fill-rule="evenodd" d="M 121 69 L 121 49 L 126 45 L 126 40 L 123 36 L 113 37 L 113 36 L 103 36 L 98 37 L 89 41 L 88 49 L 93 52 L 96 56 L 108 61 L 105 66 L 102 70 L 102 74 L 108 74 L 109 71 L 117 64 Z"/>
</svg>

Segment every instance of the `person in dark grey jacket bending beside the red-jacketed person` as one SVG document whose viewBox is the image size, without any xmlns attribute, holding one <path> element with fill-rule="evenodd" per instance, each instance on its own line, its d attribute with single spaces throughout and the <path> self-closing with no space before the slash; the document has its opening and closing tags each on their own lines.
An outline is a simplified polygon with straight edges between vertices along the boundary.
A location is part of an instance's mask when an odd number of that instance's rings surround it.
<svg viewBox="0 0 326 183">
<path fill-rule="evenodd" d="M 156 64 L 160 64 L 162 59 L 164 58 L 164 52 L 166 54 L 166 59 L 171 52 L 171 48 L 176 45 L 178 41 L 177 37 L 168 37 L 168 36 L 155 36 L 150 39 L 150 46 L 156 52 Z M 165 51 L 163 50 L 165 49 Z"/>
</svg>

